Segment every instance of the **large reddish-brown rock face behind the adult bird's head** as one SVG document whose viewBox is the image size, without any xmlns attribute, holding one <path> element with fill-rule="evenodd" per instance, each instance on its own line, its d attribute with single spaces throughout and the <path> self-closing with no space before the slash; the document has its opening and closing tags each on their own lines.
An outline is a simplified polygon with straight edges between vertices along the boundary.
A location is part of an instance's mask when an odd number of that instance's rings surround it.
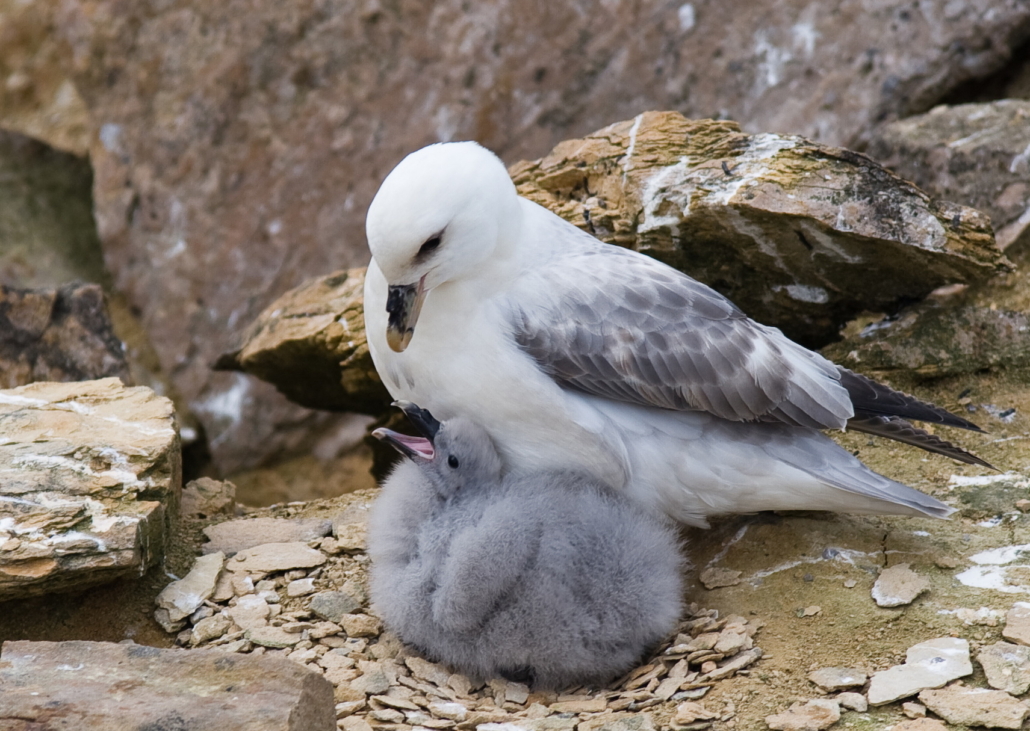
<svg viewBox="0 0 1030 731">
<path fill-rule="evenodd" d="M 365 263 L 404 153 L 476 138 L 512 161 L 654 108 L 855 143 L 1030 32 L 1022 0 L 62 8 L 107 263 L 224 469 L 298 412 L 208 363 L 277 294 Z"/>
</svg>

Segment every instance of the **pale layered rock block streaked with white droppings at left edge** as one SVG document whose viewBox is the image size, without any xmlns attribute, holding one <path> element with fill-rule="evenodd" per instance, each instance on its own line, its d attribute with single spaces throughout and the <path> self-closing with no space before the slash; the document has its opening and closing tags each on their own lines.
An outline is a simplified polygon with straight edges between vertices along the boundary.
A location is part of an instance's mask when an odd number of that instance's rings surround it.
<svg viewBox="0 0 1030 731">
<path fill-rule="evenodd" d="M 138 576 L 178 511 L 171 403 L 115 378 L 0 391 L 0 598 Z"/>
</svg>

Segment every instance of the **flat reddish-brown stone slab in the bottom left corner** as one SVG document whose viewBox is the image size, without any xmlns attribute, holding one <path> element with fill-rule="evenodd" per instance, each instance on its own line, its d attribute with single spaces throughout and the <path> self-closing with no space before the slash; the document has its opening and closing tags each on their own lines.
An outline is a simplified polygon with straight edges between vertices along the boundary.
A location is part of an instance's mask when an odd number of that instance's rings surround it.
<svg viewBox="0 0 1030 731">
<path fill-rule="evenodd" d="M 0 728 L 335 731 L 333 686 L 284 658 L 113 642 L 4 642 Z"/>
</svg>

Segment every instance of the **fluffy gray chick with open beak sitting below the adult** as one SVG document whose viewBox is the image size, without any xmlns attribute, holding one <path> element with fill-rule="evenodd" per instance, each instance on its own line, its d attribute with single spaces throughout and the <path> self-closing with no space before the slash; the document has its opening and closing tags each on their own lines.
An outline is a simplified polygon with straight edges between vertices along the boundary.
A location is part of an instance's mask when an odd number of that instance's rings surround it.
<svg viewBox="0 0 1030 731">
<path fill-rule="evenodd" d="M 425 438 L 372 510 L 375 611 L 426 657 L 538 688 L 603 684 L 668 635 L 684 560 L 671 525 L 572 473 L 502 477 L 486 432 L 398 404 Z"/>
</svg>

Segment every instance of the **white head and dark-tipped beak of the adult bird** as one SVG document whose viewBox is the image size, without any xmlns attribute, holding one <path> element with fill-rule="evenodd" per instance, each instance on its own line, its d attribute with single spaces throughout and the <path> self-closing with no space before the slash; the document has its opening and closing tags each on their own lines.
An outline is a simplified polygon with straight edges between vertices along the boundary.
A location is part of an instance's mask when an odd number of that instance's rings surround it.
<svg viewBox="0 0 1030 731">
<path fill-rule="evenodd" d="M 369 206 L 369 248 L 389 284 L 387 342 L 411 341 L 434 287 L 476 272 L 517 235 L 515 185 L 500 159 L 475 142 L 412 152 L 383 180 Z"/>
</svg>

